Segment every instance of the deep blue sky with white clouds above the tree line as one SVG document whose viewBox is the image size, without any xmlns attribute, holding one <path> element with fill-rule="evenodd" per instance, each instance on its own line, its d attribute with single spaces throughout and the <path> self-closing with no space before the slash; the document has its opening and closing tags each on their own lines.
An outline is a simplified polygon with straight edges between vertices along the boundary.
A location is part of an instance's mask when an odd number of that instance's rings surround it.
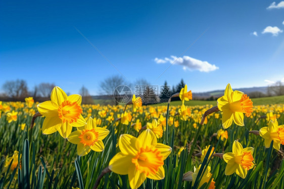
<svg viewBox="0 0 284 189">
<path fill-rule="evenodd" d="M 120 74 L 112 64 L 130 82 L 183 78 L 193 92 L 266 86 L 284 78 L 284 2 L 273 2 L 1 1 L 0 86 L 24 79 L 98 95 Z"/>
</svg>

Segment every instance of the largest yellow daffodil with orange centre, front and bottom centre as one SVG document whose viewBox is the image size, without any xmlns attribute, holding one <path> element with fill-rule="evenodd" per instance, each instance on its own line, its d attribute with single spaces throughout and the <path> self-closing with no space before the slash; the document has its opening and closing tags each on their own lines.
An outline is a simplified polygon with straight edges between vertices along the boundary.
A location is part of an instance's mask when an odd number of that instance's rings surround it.
<svg viewBox="0 0 284 189">
<path fill-rule="evenodd" d="M 137 138 L 122 134 L 119 149 L 109 163 L 109 169 L 117 174 L 128 174 L 131 188 L 138 188 L 146 178 L 161 180 L 165 177 L 164 160 L 171 147 L 157 143 L 155 134 L 146 129 Z"/>
</svg>

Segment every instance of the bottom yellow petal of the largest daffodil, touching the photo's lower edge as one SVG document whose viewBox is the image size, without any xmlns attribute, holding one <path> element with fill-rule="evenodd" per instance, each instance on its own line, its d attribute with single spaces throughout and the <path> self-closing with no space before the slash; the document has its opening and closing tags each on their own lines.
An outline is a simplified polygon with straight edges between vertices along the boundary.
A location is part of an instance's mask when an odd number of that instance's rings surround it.
<svg viewBox="0 0 284 189">
<path fill-rule="evenodd" d="M 128 179 L 129 185 L 132 189 L 138 188 L 146 180 L 146 175 L 144 172 L 140 173 L 138 170 L 136 170 L 135 165 L 131 164 L 128 169 Z"/>
</svg>

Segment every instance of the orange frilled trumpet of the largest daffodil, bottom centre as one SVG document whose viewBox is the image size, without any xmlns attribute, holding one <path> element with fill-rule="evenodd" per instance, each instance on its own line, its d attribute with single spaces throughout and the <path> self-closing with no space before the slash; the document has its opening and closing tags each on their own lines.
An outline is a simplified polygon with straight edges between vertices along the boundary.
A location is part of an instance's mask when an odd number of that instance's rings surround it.
<svg viewBox="0 0 284 189">
<path fill-rule="evenodd" d="M 140 173 L 144 172 L 147 176 L 156 174 L 159 167 L 164 165 L 161 152 L 156 148 L 149 147 L 141 148 L 137 156 L 132 158 L 132 163 L 135 164 L 136 170 L 139 170 Z"/>
</svg>

